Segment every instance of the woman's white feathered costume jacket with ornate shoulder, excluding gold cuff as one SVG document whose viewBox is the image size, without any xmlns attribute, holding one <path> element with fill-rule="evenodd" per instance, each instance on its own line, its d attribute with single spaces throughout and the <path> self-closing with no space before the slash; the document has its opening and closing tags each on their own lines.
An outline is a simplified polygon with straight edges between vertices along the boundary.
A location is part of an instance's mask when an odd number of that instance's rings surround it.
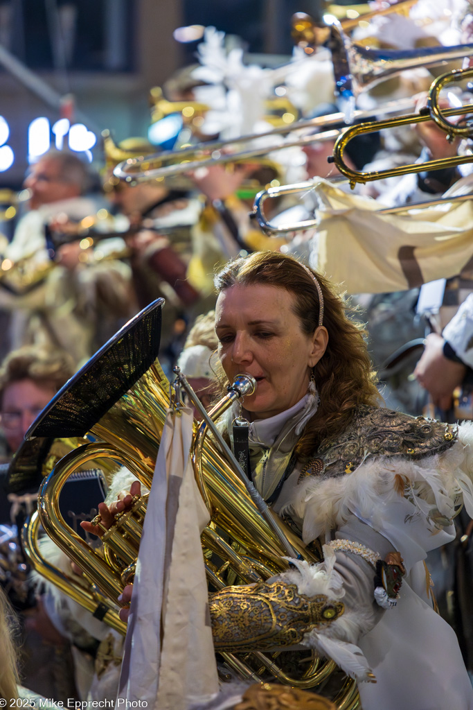
<svg viewBox="0 0 473 710">
<path fill-rule="evenodd" d="M 265 498 L 276 491 L 274 510 L 306 544 L 323 544 L 321 564 L 295 561 L 277 581 L 344 607 L 331 623 L 306 630 L 302 645 L 360 681 L 363 710 L 473 710 L 457 638 L 433 611 L 423 562 L 454 539 L 452 518 L 462 502 L 473 515 L 473 425 L 362 406 L 341 435 L 291 470 L 305 400 L 250 428 L 257 488 Z M 394 551 L 406 576 L 396 606 L 384 610 L 374 599 L 373 555 Z M 213 614 L 212 604 L 211 597 Z M 363 682 L 370 670 L 375 684 Z"/>
</svg>

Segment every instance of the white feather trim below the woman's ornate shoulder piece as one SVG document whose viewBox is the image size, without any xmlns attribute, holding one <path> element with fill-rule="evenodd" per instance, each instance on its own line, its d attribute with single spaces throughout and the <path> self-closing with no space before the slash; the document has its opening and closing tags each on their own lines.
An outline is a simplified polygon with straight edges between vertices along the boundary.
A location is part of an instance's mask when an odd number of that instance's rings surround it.
<svg viewBox="0 0 473 710">
<path fill-rule="evenodd" d="M 294 490 L 291 503 L 279 515 L 289 513 L 303 520 L 306 544 L 326 530 L 347 523 L 356 513 L 382 530 L 382 506 L 403 496 L 421 513 L 432 530 L 451 523 L 463 496 L 473 515 L 473 424 L 459 427 L 459 441 L 443 454 L 418 461 L 408 458 L 367 459 L 355 471 L 330 478 L 311 476 Z M 379 519 L 377 519 L 377 516 Z"/>
</svg>

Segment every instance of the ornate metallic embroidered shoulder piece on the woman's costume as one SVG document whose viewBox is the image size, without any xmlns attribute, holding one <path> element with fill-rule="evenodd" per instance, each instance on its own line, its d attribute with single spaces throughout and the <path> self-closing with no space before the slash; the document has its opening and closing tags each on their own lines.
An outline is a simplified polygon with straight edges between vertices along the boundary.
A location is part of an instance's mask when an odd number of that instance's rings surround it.
<svg viewBox="0 0 473 710">
<path fill-rule="evenodd" d="M 350 474 L 372 457 L 422 459 L 440 454 L 457 440 L 457 426 L 362 405 L 338 437 L 325 439 L 299 476 Z"/>
</svg>

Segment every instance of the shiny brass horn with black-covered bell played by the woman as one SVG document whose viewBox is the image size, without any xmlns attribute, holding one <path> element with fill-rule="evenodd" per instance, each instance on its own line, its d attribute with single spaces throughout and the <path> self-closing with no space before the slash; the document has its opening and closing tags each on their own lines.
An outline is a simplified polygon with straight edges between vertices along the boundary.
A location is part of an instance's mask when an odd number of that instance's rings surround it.
<svg viewBox="0 0 473 710">
<path fill-rule="evenodd" d="M 47 437 L 52 432 L 56 436 L 88 432 L 89 439 L 95 437 L 95 442 L 67 454 L 43 481 L 38 512 L 48 535 L 114 603 L 133 575 L 147 494 L 136 496 L 130 510 L 118 515 L 105 532 L 103 555 L 67 526 L 58 500 L 69 474 L 100 457 L 120 462 L 150 487 L 170 400 L 179 401 L 179 391 L 169 384 L 157 360 L 162 304 L 162 299 L 157 300 L 130 320 L 57 393 L 27 432 L 27 437 Z M 248 376 L 240 378 L 209 413 L 210 424 L 200 422 L 194 428 L 191 457 L 212 518 L 201 539 L 213 589 L 227 586 L 229 578 L 246 583 L 267 579 L 287 568 L 283 558 L 288 552 L 310 562 L 319 559 L 270 510 L 267 515 L 260 513 L 225 452 L 206 436 L 213 418 L 252 391 L 252 386 Z M 275 657 L 260 652 L 245 658 L 228 652 L 221 656 L 244 679 L 260 682 L 261 675 L 270 672 L 279 682 L 306 689 L 316 689 L 335 669 L 333 661 L 312 653 L 306 658 L 306 670 L 296 677 Z M 359 700 L 354 681 L 345 679 L 335 702 L 339 710 L 355 710 Z"/>
</svg>

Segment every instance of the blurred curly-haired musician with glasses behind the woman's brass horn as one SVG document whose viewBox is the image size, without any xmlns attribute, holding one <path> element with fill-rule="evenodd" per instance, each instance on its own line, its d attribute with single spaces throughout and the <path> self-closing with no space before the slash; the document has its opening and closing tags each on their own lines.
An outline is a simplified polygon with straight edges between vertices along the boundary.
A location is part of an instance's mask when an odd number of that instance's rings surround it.
<svg viewBox="0 0 473 710">
<path fill-rule="evenodd" d="M 6 456 L 23 442 L 30 424 L 74 373 L 74 363 L 60 350 L 24 346 L 12 351 L 0 367 L 0 427 L 6 438 Z M 6 492 L 6 471 L 0 479 L 1 585 L 13 608 L 20 613 L 22 650 L 21 681 L 45 697 L 76 697 L 74 664 L 69 640 L 50 619 L 27 575 L 16 530 L 35 510 L 38 491 Z M 7 532 L 9 531 L 9 532 Z"/>
</svg>

